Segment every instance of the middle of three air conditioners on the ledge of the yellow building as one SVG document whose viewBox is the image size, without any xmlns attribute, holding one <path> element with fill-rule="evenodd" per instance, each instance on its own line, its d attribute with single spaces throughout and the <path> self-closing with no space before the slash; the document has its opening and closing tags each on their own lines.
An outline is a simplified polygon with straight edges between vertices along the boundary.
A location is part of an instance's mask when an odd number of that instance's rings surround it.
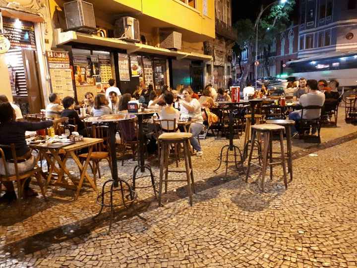
<svg viewBox="0 0 357 268">
<path fill-rule="evenodd" d="M 139 20 L 133 17 L 121 17 L 117 19 L 114 37 L 126 41 L 140 42 Z"/>
</svg>

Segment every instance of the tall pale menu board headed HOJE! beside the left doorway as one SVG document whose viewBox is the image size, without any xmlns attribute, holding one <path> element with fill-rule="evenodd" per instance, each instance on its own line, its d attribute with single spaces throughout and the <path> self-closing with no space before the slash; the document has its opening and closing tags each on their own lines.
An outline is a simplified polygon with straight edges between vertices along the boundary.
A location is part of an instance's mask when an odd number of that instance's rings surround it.
<svg viewBox="0 0 357 268">
<path fill-rule="evenodd" d="M 52 92 L 59 93 L 62 97 L 73 97 L 72 70 L 69 66 L 68 52 L 46 51 L 46 56 Z"/>
</svg>

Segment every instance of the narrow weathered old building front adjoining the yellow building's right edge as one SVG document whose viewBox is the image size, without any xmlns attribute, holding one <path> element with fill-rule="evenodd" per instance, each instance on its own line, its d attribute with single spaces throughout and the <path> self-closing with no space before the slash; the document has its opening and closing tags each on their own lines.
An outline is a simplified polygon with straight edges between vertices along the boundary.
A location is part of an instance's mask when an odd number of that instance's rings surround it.
<svg viewBox="0 0 357 268">
<path fill-rule="evenodd" d="M 215 0 L 216 38 L 204 42 L 205 54 L 213 57 L 206 63 L 205 84 L 227 87 L 232 78 L 232 47 L 237 39 L 237 30 L 232 28 L 231 0 Z"/>
</svg>

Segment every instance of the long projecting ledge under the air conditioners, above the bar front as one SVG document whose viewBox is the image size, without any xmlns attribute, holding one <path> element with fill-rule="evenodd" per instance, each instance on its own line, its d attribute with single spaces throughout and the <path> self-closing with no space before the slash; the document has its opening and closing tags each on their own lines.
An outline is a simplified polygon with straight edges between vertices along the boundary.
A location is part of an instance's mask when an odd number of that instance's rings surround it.
<svg viewBox="0 0 357 268">
<path fill-rule="evenodd" d="M 181 59 L 191 59 L 191 60 L 200 60 L 200 61 L 212 61 L 212 56 L 199 54 L 199 53 L 188 53 L 182 51 L 173 51 L 164 48 L 157 48 L 153 46 L 148 46 L 139 43 L 127 42 L 124 40 L 119 40 L 115 38 L 101 37 L 97 35 L 84 34 L 75 31 L 60 32 L 59 29 L 56 29 L 56 45 L 65 45 L 70 42 L 97 45 L 102 47 L 111 47 L 118 49 L 125 49 L 128 54 L 131 53 L 150 53 L 156 55 L 164 55 L 175 57 L 178 60 Z"/>
</svg>

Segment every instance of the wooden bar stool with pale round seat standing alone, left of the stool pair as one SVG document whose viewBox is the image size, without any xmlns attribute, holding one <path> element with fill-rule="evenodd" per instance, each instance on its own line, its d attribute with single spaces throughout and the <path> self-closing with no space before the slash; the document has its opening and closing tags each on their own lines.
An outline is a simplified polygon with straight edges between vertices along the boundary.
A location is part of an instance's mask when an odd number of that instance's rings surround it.
<svg viewBox="0 0 357 268">
<path fill-rule="evenodd" d="M 159 178 L 158 201 L 160 206 L 162 206 L 161 194 L 162 194 L 163 182 L 165 182 L 165 193 L 167 193 L 168 182 L 187 182 L 187 193 L 188 193 L 189 203 L 192 206 L 192 191 L 193 193 L 196 192 L 194 190 L 191 150 L 189 148 L 190 147 L 189 139 L 191 137 L 192 137 L 191 133 L 185 133 L 185 132 L 163 133 L 159 136 L 159 141 L 161 144 L 161 156 L 160 156 L 160 178 Z M 183 156 L 185 160 L 185 170 L 169 170 L 169 157 L 170 157 L 171 144 L 182 144 Z M 186 173 L 186 180 L 169 180 L 168 179 L 169 172 Z"/>
</svg>

